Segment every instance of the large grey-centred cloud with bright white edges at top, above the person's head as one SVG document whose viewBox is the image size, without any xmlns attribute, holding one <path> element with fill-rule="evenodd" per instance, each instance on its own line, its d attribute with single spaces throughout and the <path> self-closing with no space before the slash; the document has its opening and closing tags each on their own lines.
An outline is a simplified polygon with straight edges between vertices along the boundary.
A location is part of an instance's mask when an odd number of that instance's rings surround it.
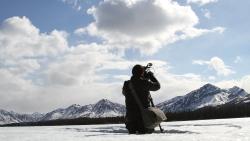
<svg viewBox="0 0 250 141">
<path fill-rule="evenodd" d="M 143 54 L 153 54 L 178 40 L 218 32 L 218 28 L 196 28 L 199 19 L 192 8 L 172 0 L 108 0 L 88 13 L 95 21 L 77 29 L 76 34 L 97 36 L 113 47 L 137 48 Z"/>
</svg>

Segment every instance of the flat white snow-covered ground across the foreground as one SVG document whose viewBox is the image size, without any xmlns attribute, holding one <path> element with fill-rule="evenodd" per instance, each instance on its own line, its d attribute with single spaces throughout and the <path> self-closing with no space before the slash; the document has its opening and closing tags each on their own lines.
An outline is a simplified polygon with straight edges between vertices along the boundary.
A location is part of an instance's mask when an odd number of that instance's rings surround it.
<svg viewBox="0 0 250 141">
<path fill-rule="evenodd" d="M 250 118 L 162 123 L 164 133 L 128 135 L 123 124 L 2 127 L 0 141 L 249 141 Z"/>
</svg>

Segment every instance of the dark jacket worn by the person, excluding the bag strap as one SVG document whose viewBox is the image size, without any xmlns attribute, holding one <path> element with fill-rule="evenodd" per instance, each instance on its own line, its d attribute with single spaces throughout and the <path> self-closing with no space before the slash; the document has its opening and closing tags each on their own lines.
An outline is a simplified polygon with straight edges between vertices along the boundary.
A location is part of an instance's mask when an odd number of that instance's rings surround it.
<svg viewBox="0 0 250 141">
<path fill-rule="evenodd" d="M 126 103 L 126 120 L 136 121 L 141 119 L 141 114 L 139 106 L 133 97 L 128 84 L 132 82 L 133 87 L 136 91 L 137 96 L 139 97 L 144 108 L 150 106 L 150 92 L 157 91 L 160 89 L 160 83 L 154 77 L 153 74 L 150 75 L 150 79 L 143 79 L 142 77 L 132 76 L 130 80 L 125 81 L 123 85 L 123 95 L 125 96 Z"/>
</svg>

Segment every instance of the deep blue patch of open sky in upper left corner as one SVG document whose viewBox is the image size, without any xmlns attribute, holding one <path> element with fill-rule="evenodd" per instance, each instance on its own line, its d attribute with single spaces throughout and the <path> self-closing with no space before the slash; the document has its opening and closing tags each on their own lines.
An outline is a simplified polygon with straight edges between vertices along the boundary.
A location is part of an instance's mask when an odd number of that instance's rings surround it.
<svg viewBox="0 0 250 141">
<path fill-rule="evenodd" d="M 77 12 L 60 0 L 3 0 L 1 13 L 1 21 L 12 16 L 26 16 L 42 32 L 49 32 L 53 29 L 73 32 L 75 28 L 87 25 L 91 20 L 86 13 Z"/>
</svg>

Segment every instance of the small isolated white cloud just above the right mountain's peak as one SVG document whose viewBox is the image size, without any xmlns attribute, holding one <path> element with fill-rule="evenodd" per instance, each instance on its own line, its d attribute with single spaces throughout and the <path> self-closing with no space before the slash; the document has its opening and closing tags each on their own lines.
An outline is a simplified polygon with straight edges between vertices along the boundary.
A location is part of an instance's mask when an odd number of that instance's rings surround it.
<svg viewBox="0 0 250 141">
<path fill-rule="evenodd" d="M 235 73 L 229 66 L 225 65 L 224 61 L 219 57 L 212 57 L 209 61 L 194 60 L 193 64 L 208 65 L 211 69 L 217 72 L 217 75 L 228 76 Z"/>
</svg>

